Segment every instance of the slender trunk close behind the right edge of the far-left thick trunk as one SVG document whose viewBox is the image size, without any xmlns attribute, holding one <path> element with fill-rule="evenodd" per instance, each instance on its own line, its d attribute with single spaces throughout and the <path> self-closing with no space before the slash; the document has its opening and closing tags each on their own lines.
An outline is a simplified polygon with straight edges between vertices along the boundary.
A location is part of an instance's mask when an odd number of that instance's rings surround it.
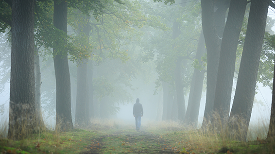
<svg viewBox="0 0 275 154">
<path fill-rule="evenodd" d="M 40 72 L 40 60 L 38 49 L 34 46 L 34 73 L 35 73 L 35 108 L 36 108 L 36 115 L 37 115 L 37 122 L 40 128 L 45 129 L 45 124 L 42 117 L 41 111 L 41 72 Z"/>
</svg>

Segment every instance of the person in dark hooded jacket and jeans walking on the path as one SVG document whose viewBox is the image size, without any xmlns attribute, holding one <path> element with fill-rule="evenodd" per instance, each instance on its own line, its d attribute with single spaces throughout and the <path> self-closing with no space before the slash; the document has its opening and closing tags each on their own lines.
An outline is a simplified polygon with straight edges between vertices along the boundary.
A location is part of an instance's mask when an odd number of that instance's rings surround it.
<svg viewBox="0 0 275 154">
<path fill-rule="evenodd" d="M 140 129 L 141 117 L 143 116 L 143 108 L 141 103 L 139 103 L 139 99 L 137 98 L 136 103 L 133 107 L 133 115 L 136 119 L 136 129 L 137 131 Z"/>
</svg>

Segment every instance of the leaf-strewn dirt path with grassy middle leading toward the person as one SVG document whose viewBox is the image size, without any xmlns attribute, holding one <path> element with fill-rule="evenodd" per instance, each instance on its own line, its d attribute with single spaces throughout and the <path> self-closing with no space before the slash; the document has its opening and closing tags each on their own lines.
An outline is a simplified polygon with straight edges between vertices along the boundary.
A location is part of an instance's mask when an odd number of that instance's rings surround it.
<svg viewBox="0 0 275 154">
<path fill-rule="evenodd" d="M 93 138 L 83 154 L 174 154 L 170 141 L 145 131 L 124 130 Z"/>
</svg>

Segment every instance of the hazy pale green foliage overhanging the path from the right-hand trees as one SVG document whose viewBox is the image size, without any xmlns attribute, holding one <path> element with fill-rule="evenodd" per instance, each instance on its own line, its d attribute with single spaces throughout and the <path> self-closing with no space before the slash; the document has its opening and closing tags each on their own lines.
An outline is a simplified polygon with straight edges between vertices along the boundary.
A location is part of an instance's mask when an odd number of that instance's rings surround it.
<svg viewBox="0 0 275 154">
<path fill-rule="evenodd" d="M 177 4 L 169 7 L 164 6 L 161 3 L 150 5 L 147 2 L 146 7 L 161 9 L 149 9 L 146 14 L 157 17 L 159 22 L 165 26 L 156 27 L 157 29 L 147 32 L 148 34 L 144 37 L 146 39 L 142 43 L 144 53 L 142 61 L 155 60 L 156 72 L 159 74 L 156 88 L 161 86 L 161 82 L 174 85 L 176 60 L 187 61 L 185 65 L 182 65 L 182 69 L 186 69 L 182 81 L 187 88 L 193 71 L 191 65 L 196 66 L 189 59 L 193 60 L 195 57 L 201 31 L 200 3 L 194 5 L 187 3 L 186 6 Z M 178 23 L 177 29 L 173 28 L 175 23 Z M 176 38 L 173 33 L 177 33 Z"/>
</svg>

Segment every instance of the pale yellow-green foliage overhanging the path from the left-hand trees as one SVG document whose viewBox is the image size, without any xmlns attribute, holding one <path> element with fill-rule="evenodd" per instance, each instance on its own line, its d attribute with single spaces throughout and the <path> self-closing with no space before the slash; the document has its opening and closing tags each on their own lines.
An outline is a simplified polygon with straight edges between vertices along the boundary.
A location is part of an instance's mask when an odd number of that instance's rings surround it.
<svg viewBox="0 0 275 154">
<path fill-rule="evenodd" d="M 142 32 L 138 28 L 147 20 L 140 11 L 131 11 L 138 8 L 137 1 L 110 2 L 102 15 L 92 19 L 90 40 L 94 46 L 94 61 L 100 63 L 104 58 L 129 60 L 127 46 L 140 39 Z"/>
</svg>

